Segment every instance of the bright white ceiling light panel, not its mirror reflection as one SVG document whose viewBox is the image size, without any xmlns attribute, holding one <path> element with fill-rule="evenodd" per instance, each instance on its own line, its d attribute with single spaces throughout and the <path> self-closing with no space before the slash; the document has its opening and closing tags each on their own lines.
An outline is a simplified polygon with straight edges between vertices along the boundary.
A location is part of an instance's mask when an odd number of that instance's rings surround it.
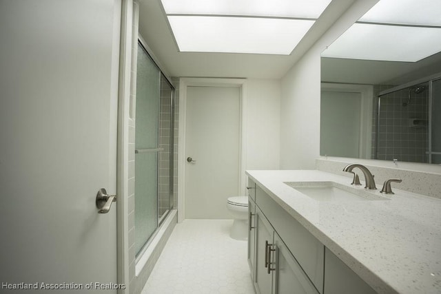
<svg viewBox="0 0 441 294">
<path fill-rule="evenodd" d="M 331 0 L 162 0 L 181 52 L 289 55 Z"/>
</svg>

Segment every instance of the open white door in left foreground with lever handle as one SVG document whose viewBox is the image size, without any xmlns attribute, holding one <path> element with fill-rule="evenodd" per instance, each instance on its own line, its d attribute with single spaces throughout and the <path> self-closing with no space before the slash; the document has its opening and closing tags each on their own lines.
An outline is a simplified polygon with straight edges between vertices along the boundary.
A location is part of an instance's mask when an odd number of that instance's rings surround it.
<svg viewBox="0 0 441 294">
<path fill-rule="evenodd" d="M 2 293 L 115 288 L 118 2 L 0 2 Z"/>
</svg>

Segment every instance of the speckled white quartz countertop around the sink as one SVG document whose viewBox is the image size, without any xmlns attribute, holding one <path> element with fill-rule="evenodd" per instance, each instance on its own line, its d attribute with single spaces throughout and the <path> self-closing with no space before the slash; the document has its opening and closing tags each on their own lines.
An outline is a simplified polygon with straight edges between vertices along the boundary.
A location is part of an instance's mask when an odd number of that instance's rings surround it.
<svg viewBox="0 0 441 294">
<path fill-rule="evenodd" d="M 399 183 L 384 196 L 376 183 L 371 193 L 387 200 L 318 201 L 285 182 L 364 185 L 318 170 L 246 174 L 378 293 L 441 293 L 440 199 L 401 191 Z"/>
</svg>

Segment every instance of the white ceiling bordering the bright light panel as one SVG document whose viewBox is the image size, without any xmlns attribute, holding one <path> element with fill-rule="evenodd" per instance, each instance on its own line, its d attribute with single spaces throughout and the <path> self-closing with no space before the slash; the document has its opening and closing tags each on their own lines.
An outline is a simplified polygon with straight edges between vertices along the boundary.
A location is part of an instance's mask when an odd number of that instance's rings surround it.
<svg viewBox="0 0 441 294">
<path fill-rule="evenodd" d="M 141 0 L 139 32 L 168 76 L 282 78 L 355 0 L 333 0 L 290 55 L 178 52 L 161 0 Z"/>
</svg>

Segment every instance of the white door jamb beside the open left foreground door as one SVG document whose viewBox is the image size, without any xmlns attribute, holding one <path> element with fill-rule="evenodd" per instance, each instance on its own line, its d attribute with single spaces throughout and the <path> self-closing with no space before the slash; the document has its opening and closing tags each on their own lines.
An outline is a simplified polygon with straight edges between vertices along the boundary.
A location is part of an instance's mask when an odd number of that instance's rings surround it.
<svg viewBox="0 0 441 294">
<path fill-rule="evenodd" d="M 130 281 L 134 274 L 130 272 L 130 200 L 132 191 L 129 182 L 130 174 L 130 108 L 132 101 L 132 60 L 133 39 L 137 41 L 138 32 L 134 32 L 134 25 L 137 25 L 135 14 L 138 10 L 133 0 L 121 1 L 121 23 L 119 42 L 119 81 L 118 81 L 118 118 L 117 118 L 117 151 L 116 151 L 116 278 L 118 284 L 124 284 L 125 288 L 119 288 L 118 294 L 130 293 L 133 291 L 134 283 Z M 132 167 L 133 168 L 133 167 Z M 134 258 L 132 258 L 134 259 Z M 133 266 L 134 267 L 134 266 Z"/>
</svg>

